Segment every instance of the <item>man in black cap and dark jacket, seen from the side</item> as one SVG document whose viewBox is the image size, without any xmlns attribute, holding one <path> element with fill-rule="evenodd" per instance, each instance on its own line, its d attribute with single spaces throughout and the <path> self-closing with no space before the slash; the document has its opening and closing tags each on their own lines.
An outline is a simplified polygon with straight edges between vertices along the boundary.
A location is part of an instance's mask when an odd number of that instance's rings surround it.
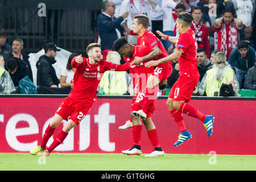
<svg viewBox="0 0 256 182">
<path fill-rule="evenodd" d="M 60 49 L 57 49 L 55 43 L 47 43 L 44 46 L 44 51 L 45 54 L 40 56 L 39 60 L 36 62 L 36 68 L 38 69 L 36 84 L 57 88 L 60 81 L 56 76 L 52 64 L 56 63 L 56 51 L 60 51 Z"/>
</svg>

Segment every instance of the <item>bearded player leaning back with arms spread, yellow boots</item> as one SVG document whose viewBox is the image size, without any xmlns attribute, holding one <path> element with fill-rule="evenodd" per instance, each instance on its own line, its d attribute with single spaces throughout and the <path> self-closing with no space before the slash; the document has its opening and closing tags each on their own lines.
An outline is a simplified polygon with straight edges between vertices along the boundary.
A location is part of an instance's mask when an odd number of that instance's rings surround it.
<svg viewBox="0 0 256 182">
<path fill-rule="evenodd" d="M 67 137 L 68 132 L 79 125 L 85 115 L 88 113 L 93 102 L 96 101 L 96 91 L 101 80 L 101 73 L 110 69 L 115 71 L 126 71 L 129 64 L 113 64 L 101 59 L 101 44 L 92 43 L 86 48 L 89 58 L 80 56 L 75 57 L 71 62 L 71 67 L 76 68 L 74 75 L 74 85 L 69 96 L 57 109 L 52 122 L 44 132 L 40 146 L 32 149 L 30 154 L 48 156 L 63 140 Z M 69 119 L 68 119 L 69 117 Z M 49 138 L 53 135 L 55 128 L 61 121 L 68 121 L 59 134 L 54 138 L 51 146 L 46 147 Z"/>
</svg>

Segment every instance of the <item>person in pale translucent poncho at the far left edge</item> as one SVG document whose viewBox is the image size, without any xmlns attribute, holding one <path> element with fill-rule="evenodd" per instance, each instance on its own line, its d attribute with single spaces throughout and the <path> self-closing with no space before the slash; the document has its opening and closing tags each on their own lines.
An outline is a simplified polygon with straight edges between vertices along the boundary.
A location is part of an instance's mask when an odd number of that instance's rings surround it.
<svg viewBox="0 0 256 182">
<path fill-rule="evenodd" d="M 8 71 L 5 70 L 5 60 L 0 55 L 0 94 L 9 94 L 16 89 Z"/>
</svg>

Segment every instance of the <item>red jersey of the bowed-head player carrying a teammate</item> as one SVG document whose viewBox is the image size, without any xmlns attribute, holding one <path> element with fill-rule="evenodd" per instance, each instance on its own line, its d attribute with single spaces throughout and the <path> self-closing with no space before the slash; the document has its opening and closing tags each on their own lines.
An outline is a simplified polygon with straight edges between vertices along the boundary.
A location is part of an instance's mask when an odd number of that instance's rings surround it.
<svg viewBox="0 0 256 182">
<path fill-rule="evenodd" d="M 133 80 L 133 88 L 135 89 L 135 87 L 137 86 L 139 92 L 141 92 L 143 86 L 146 86 L 147 78 L 148 76 L 150 76 L 150 73 L 154 71 L 154 67 L 145 67 L 145 63 L 150 60 L 142 61 L 142 63 L 139 65 L 131 64 L 131 61 L 133 61 L 135 57 L 146 56 L 151 51 L 151 48 L 148 46 L 134 46 L 133 57 L 123 57 L 126 63 L 130 64 L 130 73 L 131 79 Z M 139 84 L 137 85 L 138 82 Z M 144 89 L 146 89 L 146 87 L 144 87 Z"/>
</svg>

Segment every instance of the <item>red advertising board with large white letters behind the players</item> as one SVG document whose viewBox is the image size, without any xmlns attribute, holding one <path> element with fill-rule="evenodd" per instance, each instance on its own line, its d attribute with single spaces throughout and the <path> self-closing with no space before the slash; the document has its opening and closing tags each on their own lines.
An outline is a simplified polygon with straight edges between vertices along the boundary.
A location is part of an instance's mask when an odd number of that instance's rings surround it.
<svg viewBox="0 0 256 182">
<path fill-rule="evenodd" d="M 43 131 L 66 96 L 0 97 L 0 152 L 28 152 L 40 144 Z M 152 119 L 158 130 L 160 144 L 166 153 L 255 155 L 255 98 L 197 98 L 191 100 L 190 104 L 205 114 L 214 115 L 216 119 L 213 135 L 207 137 L 201 121 L 184 115 L 192 139 L 174 147 L 179 130 L 166 107 L 166 97 L 162 97 L 155 101 L 156 111 Z M 130 105 L 131 97 L 98 98 L 80 125 L 69 132 L 64 143 L 55 151 L 119 153 L 127 150 L 133 145 L 132 130 L 121 131 L 118 127 L 129 119 Z M 59 133 L 62 127 L 63 125 L 59 126 L 55 134 Z M 144 127 L 141 147 L 143 153 L 152 151 Z"/>
</svg>

